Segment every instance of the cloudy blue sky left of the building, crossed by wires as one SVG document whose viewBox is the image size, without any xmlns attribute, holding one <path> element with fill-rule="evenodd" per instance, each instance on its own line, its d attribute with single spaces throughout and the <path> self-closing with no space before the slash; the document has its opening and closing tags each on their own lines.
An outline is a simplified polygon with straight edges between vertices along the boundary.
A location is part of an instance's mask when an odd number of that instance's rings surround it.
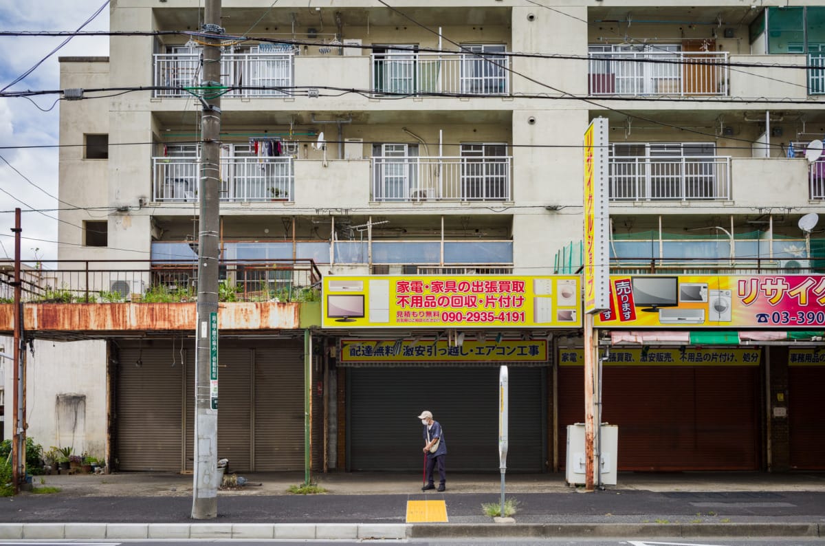
<svg viewBox="0 0 825 546">
<path fill-rule="evenodd" d="M 0 31 L 76 31 L 104 2 L 106 0 L 0 0 Z M 108 29 L 108 7 L 83 27 L 83 31 Z M 65 36 L 0 35 L 0 45 L 5 52 L 0 60 L 0 88 L 6 87 L 25 73 L 65 39 Z M 108 36 L 74 37 L 24 80 L 9 87 L 7 92 L 59 89 L 59 57 L 108 54 Z M 57 97 L 39 96 L 33 100 L 43 110 L 49 110 Z M 0 97 L 0 260 L 14 257 L 11 229 L 14 227 L 16 207 L 22 210 L 22 259 L 57 259 L 57 211 L 45 210 L 57 209 L 59 205 L 56 199 L 58 148 L 7 147 L 58 144 L 60 104 L 59 102 L 51 111 L 43 112 L 26 98 Z M 7 162 L 19 173 L 9 167 Z M 35 186 L 40 186 L 42 190 Z M 70 197 L 60 197 L 71 201 Z M 41 214 L 33 210 L 44 212 Z M 48 263 L 44 266 L 55 269 L 54 265 Z"/>
</svg>

